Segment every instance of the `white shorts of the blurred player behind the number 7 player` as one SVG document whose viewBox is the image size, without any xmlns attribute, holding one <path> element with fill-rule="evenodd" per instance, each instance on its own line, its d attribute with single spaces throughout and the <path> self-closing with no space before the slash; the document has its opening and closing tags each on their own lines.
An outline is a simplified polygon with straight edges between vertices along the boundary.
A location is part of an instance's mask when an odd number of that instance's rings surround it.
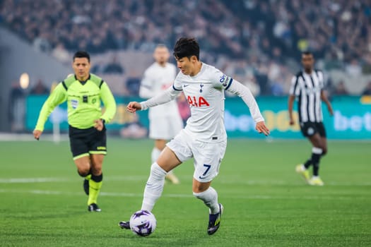
<svg viewBox="0 0 371 247">
<path fill-rule="evenodd" d="M 149 138 L 170 140 L 182 131 L 183 121 L 180 116 L 158 116 L 149 121 Z"/>
</svg>

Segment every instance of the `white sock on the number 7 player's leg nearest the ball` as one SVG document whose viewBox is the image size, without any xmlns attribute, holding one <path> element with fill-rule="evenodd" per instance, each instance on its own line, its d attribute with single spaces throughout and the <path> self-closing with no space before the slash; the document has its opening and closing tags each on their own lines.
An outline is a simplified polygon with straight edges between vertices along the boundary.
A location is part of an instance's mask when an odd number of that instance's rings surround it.
<svg viewBox="0 0 371 247">
<path fill-rule="evenodd" d="M 151 174 L 149 175 L 144 188 L 143 203 L 141 210 L 152 211 L 153 206 L 158 198 L 163 193 L 166 171 L 162 169 L 156 162 L 151 166 Z"/>
</svg>

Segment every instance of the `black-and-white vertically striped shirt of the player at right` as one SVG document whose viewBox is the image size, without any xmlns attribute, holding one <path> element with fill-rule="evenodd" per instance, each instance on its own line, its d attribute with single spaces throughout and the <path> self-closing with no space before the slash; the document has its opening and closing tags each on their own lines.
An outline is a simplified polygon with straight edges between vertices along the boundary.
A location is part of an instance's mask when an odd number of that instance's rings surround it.
<svg viewBox="0 0 371 247">
<path fill-rule="evenodd" d="M 321 92 L 324 74 L 313 70 L 311 74 L 300 71 L 291 80 L 290 95 L 298 100 L 299 122 L 322 122 Z"/>
</svg>

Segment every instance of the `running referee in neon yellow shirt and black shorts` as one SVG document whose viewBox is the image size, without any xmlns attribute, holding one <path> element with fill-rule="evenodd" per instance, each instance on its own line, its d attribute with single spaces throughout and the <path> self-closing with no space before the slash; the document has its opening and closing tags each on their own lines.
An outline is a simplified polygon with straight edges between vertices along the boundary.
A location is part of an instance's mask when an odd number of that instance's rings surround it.
<svg viewBox="0 0 371 247">
<path fill-rule="evenodd" d="M 97 198 L 102 186 L 102 163 L 107 154 L 106 128 L 116 112 L 116 102 L 107 83 L 90 74 L 90 56 L 76 52 L 72 63 L 74 75 L 68 76 L 49 95 L 40 111 L 34 137 L 39 140 L 49 114 L 67 101 L 69 140 L 78 174 L 84 179 L 88 211 L 100 212 Z M 105 105 L 105 113 L 100 108 Z"/>
</svg>

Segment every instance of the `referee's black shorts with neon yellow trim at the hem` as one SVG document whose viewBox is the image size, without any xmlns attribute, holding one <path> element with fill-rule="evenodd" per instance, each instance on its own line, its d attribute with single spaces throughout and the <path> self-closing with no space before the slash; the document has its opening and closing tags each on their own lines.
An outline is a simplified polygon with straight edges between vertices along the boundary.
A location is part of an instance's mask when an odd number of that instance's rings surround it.
<svg viewBox="0 0 371 247">
<path fill-rule="evenodd" d="M 106 155 L 106 128 L 98 131 L 94 127 L 81 129 L 69 126 L 69 143 L 73 159 L 88 155 Z"/>
</svg>

